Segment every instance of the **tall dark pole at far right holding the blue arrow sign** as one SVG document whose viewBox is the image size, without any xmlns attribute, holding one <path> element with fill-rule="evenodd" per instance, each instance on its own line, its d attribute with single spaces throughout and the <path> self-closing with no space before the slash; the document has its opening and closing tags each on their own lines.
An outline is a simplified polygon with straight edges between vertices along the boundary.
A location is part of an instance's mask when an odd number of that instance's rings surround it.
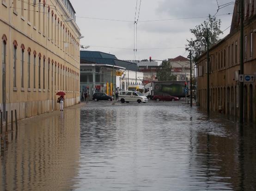
<svg viewBox="0 0 256 191">
<path fill-rule="evenodd" d="M 244 74 L 244 0 L 240 0 L 240 74 Z M 244 82 L 240 82 L 239 122 L 244 122 Z"/>
</svg>

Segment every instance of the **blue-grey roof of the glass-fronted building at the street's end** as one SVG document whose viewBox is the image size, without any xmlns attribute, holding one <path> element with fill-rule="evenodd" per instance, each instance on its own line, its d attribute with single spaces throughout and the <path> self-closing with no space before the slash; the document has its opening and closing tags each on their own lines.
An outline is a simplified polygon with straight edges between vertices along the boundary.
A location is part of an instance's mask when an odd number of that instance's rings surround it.
<svg viewBox="0 0 256 191">
<path fill-rule="evenodd" d="M 80 51 L 80 64 L 109 64 L 137 71 L 136 63 L 119 60 L 113 54 L 98 51 Z"/>
</svg>

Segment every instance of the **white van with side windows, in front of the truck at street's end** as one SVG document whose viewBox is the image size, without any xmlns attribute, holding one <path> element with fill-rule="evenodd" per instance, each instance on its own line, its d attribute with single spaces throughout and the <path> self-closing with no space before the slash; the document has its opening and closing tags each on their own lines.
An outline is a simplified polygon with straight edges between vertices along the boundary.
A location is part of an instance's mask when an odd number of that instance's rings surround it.
<svg viewBox="0 0 256 191">
<path fill-rule="evenodd" d="M 121 103 L 129 103 L 130 101 L 138 102 L 139 104 L 141 102 L 146 103 L 147 98 L 140 92 L 136 91 L 121 91 L 119 94 L 119 98 Z"/>
</svg>

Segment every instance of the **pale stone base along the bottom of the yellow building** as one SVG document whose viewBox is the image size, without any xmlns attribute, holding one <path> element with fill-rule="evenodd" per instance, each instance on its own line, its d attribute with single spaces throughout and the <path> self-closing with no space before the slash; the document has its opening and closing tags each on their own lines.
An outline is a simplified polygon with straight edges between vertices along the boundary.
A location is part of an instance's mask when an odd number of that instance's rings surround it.
<svg viewBox="0 0 256 191">
<path fill-rule="evenodd" d="M 79 97 L 66 98 L 64 107 L 70 107 L 79 104 Z M 11 111 L 13 110 L 13 121 L 15 120 L 14 110 L 17 110 L 18 120 L 37 116 L 54 110 L 60 110 L 60 104 L 57 100 L 43 100 L 43 101 L 29 101 L 6 104 L 6 111 L 8 111 L 8 122 L 11 122 Z"/>
</svg>

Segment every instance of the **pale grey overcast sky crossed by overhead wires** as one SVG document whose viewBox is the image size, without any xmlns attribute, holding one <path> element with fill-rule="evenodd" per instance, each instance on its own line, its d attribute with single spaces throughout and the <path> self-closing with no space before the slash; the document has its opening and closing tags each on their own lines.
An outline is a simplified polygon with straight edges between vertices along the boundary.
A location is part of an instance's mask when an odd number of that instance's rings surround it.
<svg viewBox="0 0 256 191">
<path fill-rule="evenodd" d="M 76 23 L 81 34 L 81 45 L 91 46 L 89 51 L 101 51 L 115 54 L 119 59 L 134 58 L 134 17 L 136 1 L 140 0 L 70 0 L 76 11 Z M 230 0 L 218 0 L 219 5 Z M 234 5 L 219 10 L 221 29 L 231 25 Z M 142 22 L 146 20 L 175 19 L 188 17 L 205 17 L 214 15 L 218 9 L 216 0 L 141 0 L 139 22 L 137 24 L 137 59 L 167 59 L 185 52 L 186 39 L 192 37 L 189 29 L 202 23 L 207 18 L 191 18 L 169 21 Z M 107 21 L 82 17 L 123 20 L 131 22 Z M 136 17 L 137 19 L 137 17 Z M 227 29 L 222 38 L 229 33 Z M 98 46 L 116 47 L 105 48 Z M 181 47 L 181 48 L 176 48 Z M 124 49 L 118 49 L 124 48 Z M 154 49 L 153 48 L 173 48 Z M 132 50 L 127 50 L 132 49 Z"/>
</svg>

